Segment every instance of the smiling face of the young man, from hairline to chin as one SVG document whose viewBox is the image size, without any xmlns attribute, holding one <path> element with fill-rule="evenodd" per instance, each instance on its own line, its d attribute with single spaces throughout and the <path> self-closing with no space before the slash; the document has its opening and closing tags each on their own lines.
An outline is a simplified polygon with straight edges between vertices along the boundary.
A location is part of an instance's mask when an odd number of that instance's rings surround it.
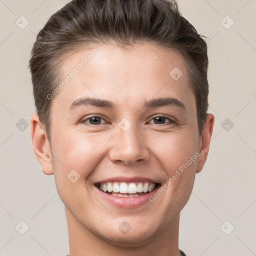
<svg viewBox="0 0 256 256">
<path fill-rule="evenodd" d="M 178 219 L 212 131 L 211 117 L 198 134 L 185 60 L 154 44 L 104 43 L 63 63 L 69 78 L 51 102 L 44 173 L 54 173 L 66 212 L 84 229 L 116 244 L 154 239 Z"/>
</svg>

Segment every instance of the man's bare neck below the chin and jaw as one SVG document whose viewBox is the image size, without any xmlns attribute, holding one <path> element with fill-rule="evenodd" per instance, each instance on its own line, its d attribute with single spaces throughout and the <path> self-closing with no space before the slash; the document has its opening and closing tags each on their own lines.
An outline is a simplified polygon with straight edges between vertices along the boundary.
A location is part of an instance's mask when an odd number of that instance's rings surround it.
<svg viewBox="0 0 256 256">
<path fill-rule="evenodd" d="M 104 237 L 91 226 L 85 227 L 65 207 L 69 256 L 180 256 L 178 249 L 179 214 L 165 227 L 150 237 L 131 237 L 121 243 L 117 236 Z"/>
</svg>

